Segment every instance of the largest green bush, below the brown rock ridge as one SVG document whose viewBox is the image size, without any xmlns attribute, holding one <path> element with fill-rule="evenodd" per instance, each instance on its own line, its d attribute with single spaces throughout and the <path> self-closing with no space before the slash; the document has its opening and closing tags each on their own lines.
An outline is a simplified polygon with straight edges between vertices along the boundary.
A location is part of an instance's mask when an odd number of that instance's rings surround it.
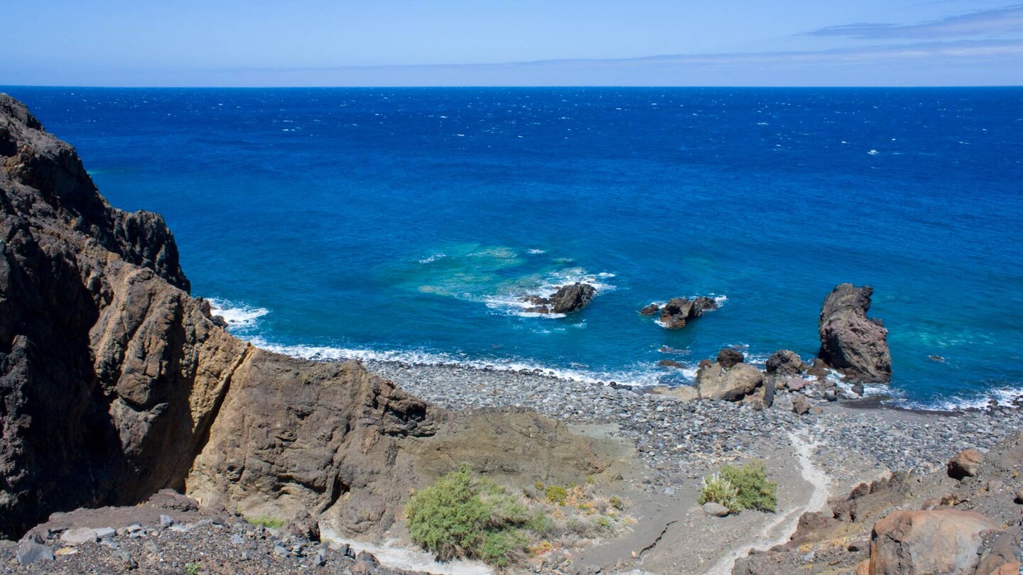
<svg viewBox="0 0 1023 575">
<path fill-rule="evenodd" d="M 529 540 L 521 528 L 536 516 L 503 486 L 473 477 L 468 465 L 412 495 L 406 507 L 412 541 L 441 561 L 458 557 L 503 567 Z"/>
</svg>

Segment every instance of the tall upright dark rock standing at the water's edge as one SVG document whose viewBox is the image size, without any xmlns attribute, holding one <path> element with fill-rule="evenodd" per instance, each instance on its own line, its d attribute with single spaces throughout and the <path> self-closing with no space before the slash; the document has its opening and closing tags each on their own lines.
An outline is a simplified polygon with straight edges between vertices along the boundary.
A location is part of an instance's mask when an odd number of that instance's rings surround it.
<svg viewBox="0 0 1023 575">
<path fill-rule="evenodd" d="M 832 290 L 820 309 L 817 355 L 851 381 L 888 383 L 892 374 L 888 329 L 866 317 L 873 294 L 870 285 L 852 283 Z"/>
</svg>

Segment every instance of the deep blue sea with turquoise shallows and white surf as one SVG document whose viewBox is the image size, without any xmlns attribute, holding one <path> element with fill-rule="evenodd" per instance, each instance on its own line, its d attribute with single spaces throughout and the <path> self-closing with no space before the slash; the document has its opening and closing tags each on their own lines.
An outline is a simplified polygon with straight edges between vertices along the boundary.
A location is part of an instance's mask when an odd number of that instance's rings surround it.
<svg viewBox="0 0 1023 575">
<path fill-rule="evenodd" d="M 1021 88 L 2 90 L 272 349 L 680 383 L 657 361 L 809 359 L 851 281 L 903 404 L 1023 389 Z M 522 312 L 571 280 L 585 310 Z"/>
</svg>

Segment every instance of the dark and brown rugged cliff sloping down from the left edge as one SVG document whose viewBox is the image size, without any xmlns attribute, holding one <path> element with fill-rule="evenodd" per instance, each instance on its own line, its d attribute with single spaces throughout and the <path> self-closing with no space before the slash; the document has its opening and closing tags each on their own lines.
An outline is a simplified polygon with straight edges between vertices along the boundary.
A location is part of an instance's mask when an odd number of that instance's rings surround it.
<svg viewBox="0 0 1023 575">
<path fill-rule="evenodd" d="M 163 219 L 112 208 L 6 94 L 0 162 L 0 535 L 186 480 L 241 508 L 326 508 L 356 486 L 340 526 L 357 530 L 412 481 L 399 442 L 432 435 L 438 410 L 356 363 L 225 333 Z"/>
</svg>

